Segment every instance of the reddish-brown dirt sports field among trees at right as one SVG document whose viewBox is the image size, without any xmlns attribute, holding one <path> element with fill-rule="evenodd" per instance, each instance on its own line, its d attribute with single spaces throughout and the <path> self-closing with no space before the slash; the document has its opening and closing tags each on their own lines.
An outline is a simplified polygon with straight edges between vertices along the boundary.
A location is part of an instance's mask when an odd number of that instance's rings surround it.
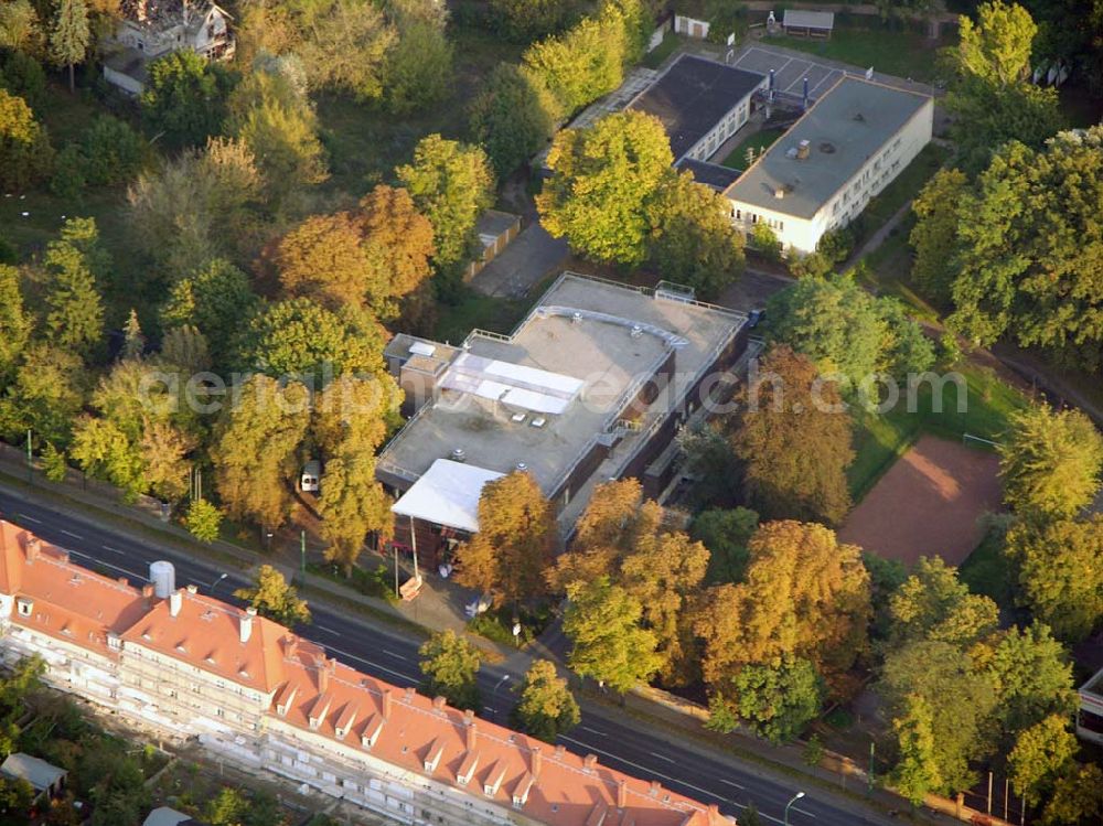
<svg viewBox="0 0 1103 826">
<path fill-rule="evenodd" d="M 938 554 L 961 565 L 982 539 L 977 517 L 1000 507 L 995 453 L 920 437 L 850 513 L 839 539 L 911 566 Z"/>
</svg>

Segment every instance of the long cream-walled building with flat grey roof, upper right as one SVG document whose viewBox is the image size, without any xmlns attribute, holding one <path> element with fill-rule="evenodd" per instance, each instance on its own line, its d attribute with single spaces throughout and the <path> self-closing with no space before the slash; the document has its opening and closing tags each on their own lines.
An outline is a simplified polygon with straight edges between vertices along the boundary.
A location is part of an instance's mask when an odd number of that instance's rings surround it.
<svg viewBox="0 0 1103 826">
<path fill-rule="evenodd" d="M 927 95 L 844 77 L 728 187 L 732 217 L 812 253 L 930 142 L 933 117 Z"/>
</svg>

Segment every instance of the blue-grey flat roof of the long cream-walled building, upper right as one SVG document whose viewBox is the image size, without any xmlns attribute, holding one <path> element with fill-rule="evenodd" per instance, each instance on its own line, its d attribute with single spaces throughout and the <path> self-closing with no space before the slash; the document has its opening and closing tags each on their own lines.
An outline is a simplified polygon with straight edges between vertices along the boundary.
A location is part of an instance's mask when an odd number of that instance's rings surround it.
<svg viewBox="0 0 1103 826">
<path fill-rule="evenodd" d="M 732 201 L 811 218 L 931 100 L 927 95 L 845 77 L 725 194 Z M 811 155 L 806 160 L 788 157 L 802 140 L 810 142 Z M 775 196 L 778 190 L 785 191 L 784 197 Z"/>
</svg>

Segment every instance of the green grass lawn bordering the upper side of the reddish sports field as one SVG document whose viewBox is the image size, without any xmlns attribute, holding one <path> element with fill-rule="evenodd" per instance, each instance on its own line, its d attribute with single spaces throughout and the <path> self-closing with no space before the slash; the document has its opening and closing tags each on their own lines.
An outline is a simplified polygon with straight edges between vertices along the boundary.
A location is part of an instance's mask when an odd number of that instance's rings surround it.
<svg viewBox="0 0 1103 826">
<path fill-rule="evenodd" d="M 855 502 L 861 501 L 921 432 L 947 439 L 961 439 L 963 433 L 996 439 L 1007 428 L 1008 415 L 1028 404 L 1021 393 L 988 369 L 964 364 L 955 373 L 965 383 L 962 410 L 959 385 L 950 380 L 940 388 L 939 410 L 929 382 L 919 385 L 912 404 L 902 391 L 899 404 L 884 414 L 854 410 L 855 459 L 847 470 L 847 482 Z"/>
</svg>

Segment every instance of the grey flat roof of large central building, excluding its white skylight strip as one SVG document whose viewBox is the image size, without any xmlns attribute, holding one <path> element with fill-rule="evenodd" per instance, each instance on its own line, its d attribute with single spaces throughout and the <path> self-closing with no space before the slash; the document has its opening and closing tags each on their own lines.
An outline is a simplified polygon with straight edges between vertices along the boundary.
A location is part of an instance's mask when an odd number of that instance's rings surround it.
<svg viewBox="0 0 1103 826">
<path fill-rule="evenodd" d="M 576 321 L 574 311 L 583 318 Z M 651 410 L 665 412 L 692 386 L 714 351 L 742 326 L 745 317 L 700 304 L 655 298 L 583 276 L 564 273 L 510 336 L 473 333 L 468 352 L 486 358 L 582 379 L 582 389 L 560 415 L 524 412 L 471 393 L 445 390 L 427 404 L 379 457 L 378 470 L 418 478 L 438 459 L 461 448 L 469 464 L 510 473 L 518 462 L 552 493 L 596 437 L 622 412 L 627 395 L 675 353 L 673 391 Z M 623 322 L 628 322 L 627 324 Z M 640 325 L 641 333 L 632 334 Z M 650 412 L 650 411 L 649 411 Z M 634 436 L 628 436 L 628 443 Z"/>
</svg>

